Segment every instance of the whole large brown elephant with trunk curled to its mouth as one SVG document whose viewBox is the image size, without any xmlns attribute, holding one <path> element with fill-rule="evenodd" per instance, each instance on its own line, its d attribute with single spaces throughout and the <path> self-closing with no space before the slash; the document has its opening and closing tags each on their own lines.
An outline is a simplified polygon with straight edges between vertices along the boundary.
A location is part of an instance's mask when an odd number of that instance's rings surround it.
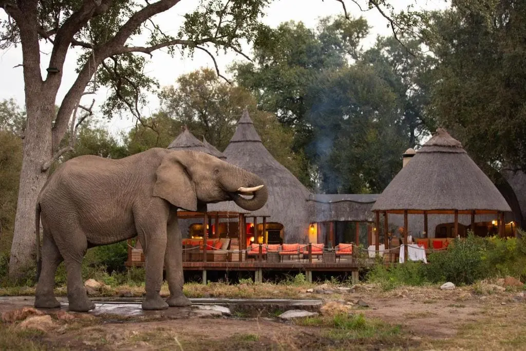
<svg viewBox="0 0 526 351">
<path fill-rule="evenodd" d="M 53 287 L 57 266 L 64 260 L 68 309 L 87 312 L 95 308 L 81 277 L 86 250 L 136 236 L 146 260 L 142 308 L 191 305 L 183 294 L 177 209 L 202 212 L 208 203 L 234 200 L 241 208 L 254 211 L 267 198 L 260 177 L 203 152 L 151 148 L 121 159 L 72 158 L 49 176 L 37 197 L 35 307 L 60 307 Z M 170 290 L 166 301 L 159 295 L 163 267 Z"/>
</svg>

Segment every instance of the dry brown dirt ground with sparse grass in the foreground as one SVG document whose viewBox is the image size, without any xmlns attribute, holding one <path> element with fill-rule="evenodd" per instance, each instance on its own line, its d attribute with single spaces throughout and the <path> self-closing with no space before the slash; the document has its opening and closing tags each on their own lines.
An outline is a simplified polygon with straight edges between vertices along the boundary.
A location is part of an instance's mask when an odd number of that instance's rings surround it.
<svg viewBox="0 0 526 351">
<path fill-rule="evenodd" d="M 24 329 L 19 322 L 0 324 L 0 349 L 524 349 L 526 299 L 521 294 L 482 292 L 480 287 L 389 292 L 371 287 L 353 293 L 307 294 L 334 308 L 322 308 L 322 316 L 295 322 L 268 314 L 203 318 L 184 308 L 137 316 L 80 317 L 86 314 L 54 311 L 47 312 L 53 318 L 43 331 Z M 359 306 L 360 299 L 369 306 Z M 0 313 L 24 305 L 32 305 L 31 297 L 0 304 Z M 338 323 L 334 315 L 340 307 L 355 316 L 363 314 L 368 322 Z"/>
</svg>

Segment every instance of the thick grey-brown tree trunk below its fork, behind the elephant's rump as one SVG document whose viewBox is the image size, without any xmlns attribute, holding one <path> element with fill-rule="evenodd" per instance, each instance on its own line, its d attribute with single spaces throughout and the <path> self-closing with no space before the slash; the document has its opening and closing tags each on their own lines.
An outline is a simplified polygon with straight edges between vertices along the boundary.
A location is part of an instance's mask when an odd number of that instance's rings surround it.
<svg viewBox="0 0 526 351">
<path fill-rule="evenodd" d="M 53 155 L 51 121 L 54 100 L 41 96 L 35 98 L 31 105 L 27 106 L 22 171 L 9 260 L 9 277 L 15 280 L 22 277 L 25 269 L 34 265 L 35 205 L 48 177 L 48 172 L 42 172 L 42 164 Z"/>
</svg>

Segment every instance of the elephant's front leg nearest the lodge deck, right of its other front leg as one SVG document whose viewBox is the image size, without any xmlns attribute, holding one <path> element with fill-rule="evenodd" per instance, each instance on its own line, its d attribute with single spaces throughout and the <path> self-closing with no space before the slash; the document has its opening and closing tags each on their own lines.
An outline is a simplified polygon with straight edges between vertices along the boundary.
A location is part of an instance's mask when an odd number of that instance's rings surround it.
<svg viewBox="0 0 526 351">
<path fill-rule="evenodd" d="M 181 231 L 177 218 L 171 220 L 167 227 L 168 242 L 166 245 L 165 267 L 170 297 L 166 300 L 170 307 L 190 306 L 191 301 L 183 293 L 185 283 L 183 276 L 183 247 Z"/>
</svg>

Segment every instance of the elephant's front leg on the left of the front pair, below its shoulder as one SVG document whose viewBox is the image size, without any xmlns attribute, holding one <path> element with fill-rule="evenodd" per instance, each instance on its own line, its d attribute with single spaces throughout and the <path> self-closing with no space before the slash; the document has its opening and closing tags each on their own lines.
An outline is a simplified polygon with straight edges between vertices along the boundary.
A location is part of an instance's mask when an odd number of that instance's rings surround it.
<svg viewBox="0 0 526 351">
<path fill-rule="evenodd" d="M 166 236 L 149 238 L 145 247 L 146 296 L 143 309 L 166 309 L 168 304 L 160 297 L 163 284 L 163 261 L 166 250 Z"/>
</svg>

